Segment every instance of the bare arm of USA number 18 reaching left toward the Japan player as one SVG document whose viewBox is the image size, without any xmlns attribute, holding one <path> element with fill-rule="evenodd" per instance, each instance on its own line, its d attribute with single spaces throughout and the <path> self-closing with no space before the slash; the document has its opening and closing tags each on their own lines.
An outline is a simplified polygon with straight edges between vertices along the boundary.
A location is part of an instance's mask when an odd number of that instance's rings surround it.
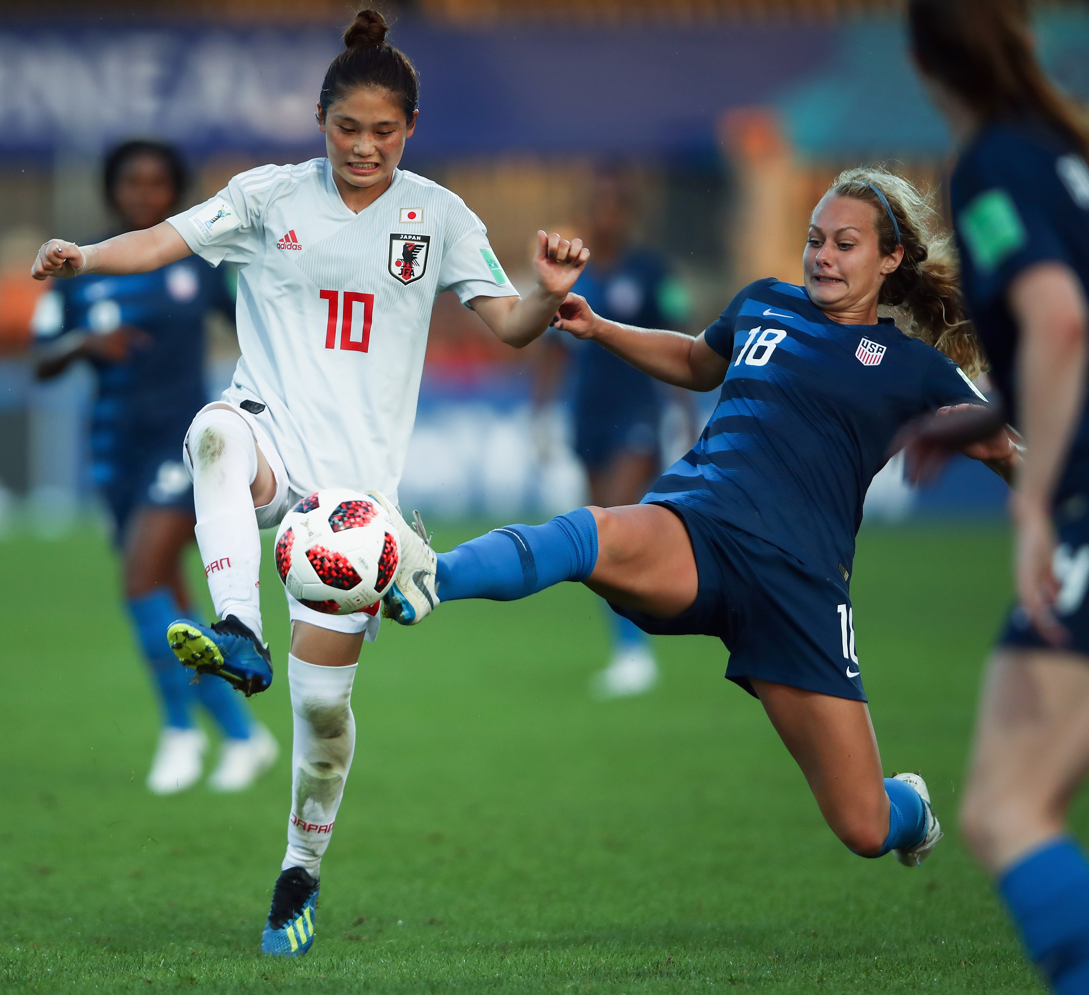
<svg viewBox="0 0 1089 995">
<path fill-rule="evenodd" d="M 567 295 L 555 327 L 597 342 L 656 380 L 690 391 L 713 390 L 730 369 L 730 360 L 714 352 L 702 333 L 693 339 L 684 332 L 605 321 L 578 294 Z"/>
</svg>

